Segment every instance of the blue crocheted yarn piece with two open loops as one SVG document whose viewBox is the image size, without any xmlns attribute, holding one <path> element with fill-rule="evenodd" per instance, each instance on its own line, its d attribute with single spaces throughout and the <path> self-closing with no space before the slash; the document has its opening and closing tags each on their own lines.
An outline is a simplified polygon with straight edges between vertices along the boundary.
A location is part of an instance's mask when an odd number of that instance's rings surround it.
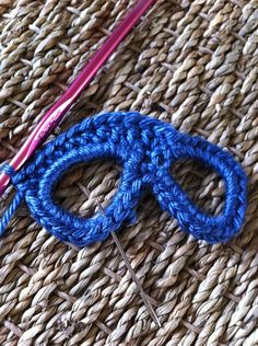
<svg viewBox="0 0 258 346">
<path fill-rule="evenodd" d="M 116 159 L 122 165 L 119 189 L 104 215 L 77 217 L 54 200 L 55 185 L 74 164 L 101 158 Z M 169 169 L 183 158 L 202 161 L 225 181 L 221 215 L 200 211 L 173 180 Z M 103 241 L 110 231 L 136 220 L 136 207 L 145 189 L 152 191 L 181 229 L 209 243 L 231 240 L 245 218 L 247 178 L 228 152 L 138 113 L 87 118 L 47 143 L 21 172 L 14 174 L 8 165 L 2 171 L 11 176 L 17 194 L 0 221 L 0 234 L 25 199 L 35 220 L 61 241 L 78 246 Z"/>
</svg>

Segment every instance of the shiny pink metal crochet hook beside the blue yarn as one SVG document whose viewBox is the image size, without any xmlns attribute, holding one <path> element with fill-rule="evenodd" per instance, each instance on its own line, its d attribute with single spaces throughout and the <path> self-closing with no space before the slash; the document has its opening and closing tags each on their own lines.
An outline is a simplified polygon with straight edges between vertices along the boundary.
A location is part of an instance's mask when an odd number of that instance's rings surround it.
<svg viewBox="0 0 258 346">
<path fill-rule="evenodd" d="M 99 68 L 107 61 L 112 53 L 130 32 L 132 26 L 155 1 L 156 0 L 139 0 L 137 4 L 129 11 L 128 15 L 106 39 L 104 45 L 94 54 L 93 58 L 68 88 L 68 90 L 62 94 L 62 96 L 50 107 L 50 109 L 28 136 L 21 150 L 11 160 L 9 164 L 15 171 L 21 169 L 21 166 L 28 160 L 28 158 L 35 152 L 40 143 L 49 136 L 54 128 L 61 122 L 64 114 L 70 109 L 71 105 L 80 96 L 83 90 L 90 84 Z M 9 182 L 10 177 L 2 173 L 0 175 L 0 197 L 7 189 Z"/>
</svg>

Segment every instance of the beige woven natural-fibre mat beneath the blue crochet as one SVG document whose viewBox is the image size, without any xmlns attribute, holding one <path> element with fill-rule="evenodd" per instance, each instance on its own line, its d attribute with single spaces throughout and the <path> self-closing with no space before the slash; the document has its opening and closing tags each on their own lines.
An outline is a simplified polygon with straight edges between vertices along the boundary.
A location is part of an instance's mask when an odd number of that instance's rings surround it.
<svg viewBox="0 0 258 346">
<path fill-rule="evenodd" d="M 1 162 L 133 3 L 0 1 Z M 181 232 L 152 197 L 142 201 L 119 240 L 159 328 L 112 238 L 79 251 L 22 207 L 0 239 L 0 345 L 258 345 L 257 73 L 257 0 L 157 1 L 56 135 L 97 112 L 136 109 L 227 148 L 249 177 L 244 230 L 210 246 Z M 84 165 L 57 198 L 86 217 L 97 198 L 110 200 L 119 174 L 114 162 Z M 204 210 L 221 210 L 214 173 L 184 162 L 173 174 Z"/>
</svg>

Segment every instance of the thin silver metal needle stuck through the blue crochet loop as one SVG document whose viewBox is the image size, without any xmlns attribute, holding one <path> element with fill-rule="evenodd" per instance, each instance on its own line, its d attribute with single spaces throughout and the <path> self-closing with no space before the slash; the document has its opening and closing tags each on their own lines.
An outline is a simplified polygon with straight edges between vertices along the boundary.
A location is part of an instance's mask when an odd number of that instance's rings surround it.
<svg viewBox="0 0 258 346">
<path fill-rule="evenodd" d="M 103 207 L 101 205 L 101 201 L 98 199 L 97 199 L 97 206 L 98 206 L 98 209 L 99 209 L 101 214 L 105 215 L 105 210 L 103 209 Z M 144 302 L 144 304 L 146 307 L 146 310 L 149 311 L 149 313 L 150 313 L 152 320 L 154 321 L 154 323 L 156 324 L 156 326 L 161 327 L 162 326 L 161 321 L 159 320 L 159 318 L 157 318 L 157 315 L 156 315 L 156 313 L 155 313 L 155 311 L 154 311 L 154 309 L 153 309 L 148 296 L 145 295 L 145 292 L 144 292 L 144 290 L 143 290 L 143 288 L 142 288 L 142 286 L 141 286 L 141 284 L 140 284 L 137 275 L 136 275 L 136 273 L 134 273 L 134 270 L 132 269 L 132 266 L 131 266 L 131 264 L 130 264 L 130 262 L 129 262 L 129 260 L 128 260 L 128 257 L 127 257 L 127 255 L 126 255 L 126 253 L 125 253 L 125 251 L 124 251 L 124 249 L 121 246 L 121 243 L 119 242 L 119 239 L 117 238 L 117 234 L 115 232 L 110 232 L 110 233 L 112 233 L 112 237 L 113 237 L 113 239 L 114 239 L 114 241 L 115 241 L 115 243 L 117 245 L 117 249 L 118 249 L 124 262 L 126 263 L 126 266 L 127 266 L 127 268 L 128 268 L 128 270 L 129 270 L 129 273 L 130 273 L 130 275 L 131 275 L 131 277 L 132 277 L 133 281 L 134 281 L 134 284 L 137 285 L 137 288 L 140 291 L 140 295 L 141 295 L 142 300 L 143 300 L 143 302 Z"/>
</svg>

